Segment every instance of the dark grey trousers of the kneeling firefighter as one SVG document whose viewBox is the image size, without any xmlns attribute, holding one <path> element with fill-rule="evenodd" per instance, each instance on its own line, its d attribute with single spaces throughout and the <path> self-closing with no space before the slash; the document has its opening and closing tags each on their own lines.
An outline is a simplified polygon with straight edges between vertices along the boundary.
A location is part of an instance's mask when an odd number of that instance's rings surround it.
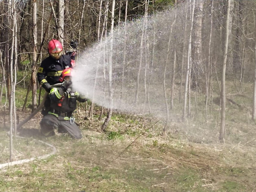
<svg viewBox="0 0 256 192">
<path fill-rule="evenodd" d="M 60 119 L 60 118 L 59 118 Z M 41 133 L 45 136 L 55 135 L 54 129 L 58 129 L 60 133 L 68 133 L 75 139 L 81 139 L 82 134 L 76 123 L 70 124 L 69 120 L 59 120 L 55 115 L 45 115 L 41 122 Z"/>
</svg>

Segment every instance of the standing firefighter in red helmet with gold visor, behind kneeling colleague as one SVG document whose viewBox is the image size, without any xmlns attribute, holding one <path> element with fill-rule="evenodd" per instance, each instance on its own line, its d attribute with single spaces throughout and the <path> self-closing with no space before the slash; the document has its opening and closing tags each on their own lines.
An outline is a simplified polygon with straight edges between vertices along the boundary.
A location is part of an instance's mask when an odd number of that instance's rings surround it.
<svg viewBox="0 0 256 192">
<path fill-rule="evenodd" d="M 62 45 L 58 40 L 50 40 L 48 44 L 49 57 L 41 62 L 37 72 L 38 82 L 48 93 L 51 90 L 51 85 L 59 83 L 61 72 L 72 67 L 71 58 L 62 54 L 62 50 Z"/>
</svg>

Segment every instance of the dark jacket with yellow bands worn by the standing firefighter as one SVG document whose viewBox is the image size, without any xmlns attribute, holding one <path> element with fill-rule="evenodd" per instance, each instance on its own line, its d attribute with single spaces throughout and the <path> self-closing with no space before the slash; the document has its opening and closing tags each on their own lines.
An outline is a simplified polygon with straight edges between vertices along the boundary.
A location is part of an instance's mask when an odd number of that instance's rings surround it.
<svg viewBox="0 0 256 192">
<path fill-rule="evenodd" d="M 69 67 L 72 65 L 68 55 L 62 55 L 58 60 L 49 56 L 41 62 L 37 72 L 37 80 L 39 83 L 47 81 L 50 85 L 59 83 L 61 72 Z"/>
</svg>

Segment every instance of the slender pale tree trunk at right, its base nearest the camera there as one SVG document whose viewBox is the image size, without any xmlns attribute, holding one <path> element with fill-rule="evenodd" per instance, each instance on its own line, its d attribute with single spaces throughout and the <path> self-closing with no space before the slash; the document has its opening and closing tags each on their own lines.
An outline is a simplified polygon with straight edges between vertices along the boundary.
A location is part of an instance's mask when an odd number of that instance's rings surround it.
<svg viewBox="0 0 256 192">
<path fill-rule="evenodd" d="M 230 11 L 230 1 L 228 0 L 228 10 L 226 18 L 226 38 L 225 38 L 225 50 L 223 53 L 223 65 L 222 65 L 222 79 L 221 79 L 221 120 L 220 120 L 220 135 L 219 141 L 224 142 L 225 135 L 225 118 L 226 118 L 226 62 L 228 53 L 228 24 L 229 24 L 229 11 Z"/>
</svg>

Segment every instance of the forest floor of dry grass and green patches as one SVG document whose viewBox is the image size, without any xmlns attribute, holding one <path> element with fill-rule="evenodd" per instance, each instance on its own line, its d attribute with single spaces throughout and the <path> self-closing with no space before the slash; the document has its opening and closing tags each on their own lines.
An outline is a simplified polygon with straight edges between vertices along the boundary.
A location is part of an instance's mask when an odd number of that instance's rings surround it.
<svg viewBox="0 0 256 192">
<path fill-rule="evenodd" d="M 227 107 L 240 114 L 227 122 L 225 143 L 218 142 L 216 121 L 193 117 L 173 121 L 163 137 L 159 119 L 115 112 L 102 133 L 98 130 L 104 119 L 98 121 L 95 114 L 93 121 L 86 120 L 82 108 L 76 115 L 81 140 L 63 134 L 44 138 L 37 114 L 19 130 L 26 138 L 14 139 L 14 160 L 51 152 L 36 140 L 54 145 L 57 153 L 3 168 L 0 191 L 256 191 L 255 124 L 246 107 L 239 109 L 232 102 Z M 20 121 L 30 114 L 27 111 L 17 111 Z M 0 164 L 9 158 L 8 124 L 4 126 L 3 118 L 1 110 Z"/>
</svg>

